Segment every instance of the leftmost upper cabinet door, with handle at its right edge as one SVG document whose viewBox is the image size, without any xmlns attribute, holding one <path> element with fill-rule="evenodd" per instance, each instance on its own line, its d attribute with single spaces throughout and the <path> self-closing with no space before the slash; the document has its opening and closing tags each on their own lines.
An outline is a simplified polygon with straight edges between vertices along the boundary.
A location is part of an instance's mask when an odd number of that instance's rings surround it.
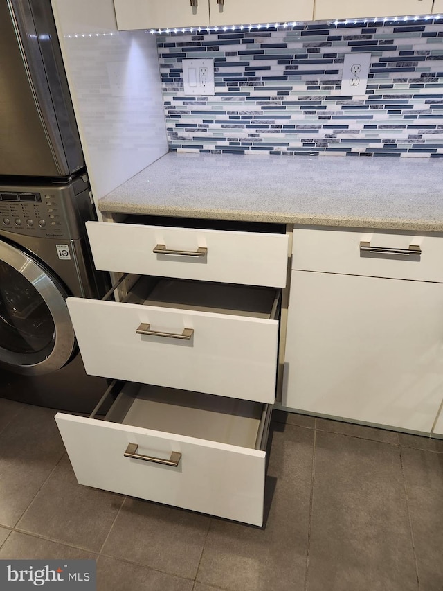
<svg viewBox="0 0 443 591">
<path fill-rule="evenodd" d="M 114 0 L 118 30 L 209 25 L 208 0 Z"/>
</svg>

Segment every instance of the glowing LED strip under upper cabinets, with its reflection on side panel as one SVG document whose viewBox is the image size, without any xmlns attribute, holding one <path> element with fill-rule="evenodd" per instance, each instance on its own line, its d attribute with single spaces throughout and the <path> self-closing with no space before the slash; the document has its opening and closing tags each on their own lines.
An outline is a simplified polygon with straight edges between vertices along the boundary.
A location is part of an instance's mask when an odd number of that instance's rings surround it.
<svg viewBox="0 0 443 591">
<path fill-rule="evenodd" d="M 374 17 L 372 19 L 345 19 L 345 20 L 335 20 L 335 21 L 324 21 L 325 25 L 327 26 L 338 26 L 338 25 L 349 25 L 349 24 L 368 24 L 368 23 L 386 23 L 388 21 L 392 21 L 394 23 L 404 23 L 404 22 L 414 22 L 418 20 L 441 20 L 443 19 L 443 15 L 416 15 L 411 17 Z M 319 24 L 321 21 L 319 21 Z M 154 33 L 158 35 L 175 35 L 177 33 L 218 33 L 223 32 L 226 33 L 227 31 L 233 30 L 252 30 L 252 29 L 269 29 L 269 28 L 287 28 L 291 26 L 299 26 L 304 24 L 303 22 L 289 22 L 289 23 L 260 23 L 260 24 L 250 24 L 250 25 L 225 25 L 225 26 L 201 26 L 201 27 L 177 27 L 177 28 L 164 28 L 164 29 L 147 29 L 145 33 Z M 78 35 L 64 35 L 68 39 L 72 37 L 109 37 L 112 35 L 116 35 L 116 33 L 79 33 Z"/>
</svg>

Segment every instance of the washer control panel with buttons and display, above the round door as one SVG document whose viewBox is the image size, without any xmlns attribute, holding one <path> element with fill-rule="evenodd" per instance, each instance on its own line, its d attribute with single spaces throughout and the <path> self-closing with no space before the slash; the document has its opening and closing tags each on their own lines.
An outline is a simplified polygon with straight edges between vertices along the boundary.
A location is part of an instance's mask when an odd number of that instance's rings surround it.
<svg viewBox="0 0 443 591">
<path fill-rule="evenodd" d="M 56 192 L 0 191 L 0 228 L 32 236 L 62 236 L 59 200 Z"/>
</svg>

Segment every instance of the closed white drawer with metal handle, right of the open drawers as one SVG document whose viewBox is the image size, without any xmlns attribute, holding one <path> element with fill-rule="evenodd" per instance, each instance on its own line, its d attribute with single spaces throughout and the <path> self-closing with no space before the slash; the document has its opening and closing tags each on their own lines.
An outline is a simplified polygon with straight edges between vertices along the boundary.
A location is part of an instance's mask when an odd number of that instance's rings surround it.
<svg viewBox="0 0 443 591">
<path fill-rule="evenodd" d="M 363 229 L 293 231 L 291 266 L 299 271 L 443 282 L 442 260 L 443 236 Z"/>
</svg>

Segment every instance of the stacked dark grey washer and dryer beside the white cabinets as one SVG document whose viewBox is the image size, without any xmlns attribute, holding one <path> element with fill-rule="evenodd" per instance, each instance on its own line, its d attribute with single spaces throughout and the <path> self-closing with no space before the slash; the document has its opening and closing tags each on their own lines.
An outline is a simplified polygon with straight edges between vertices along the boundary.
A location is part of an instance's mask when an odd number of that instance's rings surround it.
<svg viewBox="0 0 443 591">
<path fill-rule="evenodd" d="M 66 297 L 100 297 L 95 218 L 50 0 L 0 0 L 0 398 L 90 412 Z"/>
</svg>

